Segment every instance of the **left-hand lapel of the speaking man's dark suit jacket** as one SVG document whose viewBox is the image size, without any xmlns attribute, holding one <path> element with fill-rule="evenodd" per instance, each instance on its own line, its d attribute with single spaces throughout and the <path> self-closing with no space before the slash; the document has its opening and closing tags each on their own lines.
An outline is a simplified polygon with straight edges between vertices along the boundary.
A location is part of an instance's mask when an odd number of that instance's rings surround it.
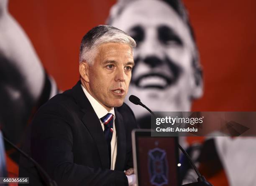
<svg viewBox="0 0 256 186">
<path fill-rule="evenodd" d="M 81 107 L 82 112 L 84 113 L 82 117 L 82 122 L 84 123 L 85 127 L 88 129 L 92 138 L 95 141 L 100 155 L 102 168 L 109 169 L 110 162 L 108 145 L 102 131 L 102 126 L 100 124 L 99 118 L 97 117 L 97 114 L 95 113 L 92 105 L 90 104 L 89 100 L 87 99 L 82 90 L 80 81 L 77 82 L 77 84 L 72 88 L 72 94 L 77 104 Z"/>
</svg>

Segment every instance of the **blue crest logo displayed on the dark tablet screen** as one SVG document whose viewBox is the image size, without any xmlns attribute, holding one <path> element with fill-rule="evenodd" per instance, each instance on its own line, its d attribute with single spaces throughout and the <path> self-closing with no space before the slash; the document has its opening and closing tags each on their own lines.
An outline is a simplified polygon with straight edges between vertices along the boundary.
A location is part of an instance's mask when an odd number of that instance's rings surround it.
<svg viewBox="0 0 256 186">
<path fill-rule="evenodd" d="M 165 150 L 155 148 L 148 151 L 148 173 L 152 185 L 168 184 L 168 161 Z"/>
</svg>

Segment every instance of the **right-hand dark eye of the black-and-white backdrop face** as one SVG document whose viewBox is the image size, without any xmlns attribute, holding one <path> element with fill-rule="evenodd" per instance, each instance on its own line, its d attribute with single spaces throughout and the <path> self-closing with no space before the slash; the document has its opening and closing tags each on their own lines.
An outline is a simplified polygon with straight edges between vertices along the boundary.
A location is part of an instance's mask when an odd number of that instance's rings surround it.
<svg viewBox="0 0 256 186">
<path fill-rule="evenodd" d="M 179 45 L 182 46 L 182 40 L 180 37 L 172 30 L 172 28 L 167 26 L 158 27 L 158 38 L 164 45 Z"/>
</svg>

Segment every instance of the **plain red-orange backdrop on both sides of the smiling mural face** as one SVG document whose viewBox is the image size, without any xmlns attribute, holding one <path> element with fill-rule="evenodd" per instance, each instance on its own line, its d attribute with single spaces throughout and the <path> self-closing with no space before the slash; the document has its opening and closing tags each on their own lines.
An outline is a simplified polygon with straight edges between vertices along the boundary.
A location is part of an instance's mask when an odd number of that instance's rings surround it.
<svg viewBox="0 0 256 186">
<path fill-rule="evenodd" d="M 71 3 L 72 2 L 72 3 Z M 9 9 L 60 89 L 79 78 L 79 43 L 115 0 L 10 0 Z M 256 111 L 256 1 L 184 0 L 204 69 L 194 111 Z"/>
</svg>

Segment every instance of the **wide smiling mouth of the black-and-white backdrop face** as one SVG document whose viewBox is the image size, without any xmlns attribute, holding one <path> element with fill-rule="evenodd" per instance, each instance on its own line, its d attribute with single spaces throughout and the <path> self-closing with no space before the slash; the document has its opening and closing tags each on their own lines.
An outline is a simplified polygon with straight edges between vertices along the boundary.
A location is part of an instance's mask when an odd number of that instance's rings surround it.
<svg viewBox="0 0 256 186">
<path fill-rule="evenodd" d="M 173 79 L 165 74 L 149 73 L 144 74 L 133 80 L 134 84 L 139 88 L 156 88 L 165 89 L 172 84 Z"/>
</svg>

